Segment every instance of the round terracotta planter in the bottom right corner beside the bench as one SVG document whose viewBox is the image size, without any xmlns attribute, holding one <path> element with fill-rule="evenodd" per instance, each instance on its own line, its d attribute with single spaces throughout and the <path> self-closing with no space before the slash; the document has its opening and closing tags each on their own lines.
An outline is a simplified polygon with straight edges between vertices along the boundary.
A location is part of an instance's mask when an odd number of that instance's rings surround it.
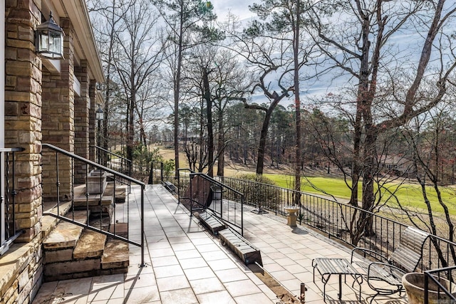
<svg viewBox="0 0 456 304">
<path fill-rule="evenodd" d="M 450 290 L 450 281 L 445 278 L 439 279 L 440 283 L 447 290 Z M 410 304 L 423 304 L 425 303 L 425 274 L 424 273 L 407 273 L 402 277 L 402 284 L 404 285 L 405 292 L 407 293 L 408 303 Z M 456 295 L 456 285 L 452 283 L 452 295 Z M 450 300 L 441 289 L 439 290 L 437 284 L 430 280 L 428 285 L 428 300 L 429 304 L 443 303 L 443 300 Z M 449 302 L 448 302 L 449 303 Z"/>
</svg>

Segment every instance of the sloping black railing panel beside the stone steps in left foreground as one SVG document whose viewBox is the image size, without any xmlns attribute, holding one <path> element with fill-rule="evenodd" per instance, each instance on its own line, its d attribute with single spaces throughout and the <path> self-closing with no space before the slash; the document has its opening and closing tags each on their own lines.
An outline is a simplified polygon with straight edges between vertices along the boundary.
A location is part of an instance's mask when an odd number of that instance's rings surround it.
<svg viewBox="0 0 456 304">
<path fill-rule="evenodd" d="M 46 187 L 43 186 L 43 201 L 46 200 L 44 197 L 44 192 L 48 189 L 52 194 L 46 193 L 48 195 L 48 200 L 55 201 L 54 206 L 48 211 L 43 210 L 43 214 L 54 216 L 57 219 L 63 221 L 71 222 L 78 226 L 82 226 L 85 229 L 90 229 L 96 231 L 100 234 L 105 234 L 106 236 L 113 237 L 114 239 L 119 239 L 127 243 L 139 246 L 141 248 L 141 265 L 144 266 L 144 192 L 145 184 L 129 177 L 126 174 L 115 171 L 109 167 L 105 167 L 96 162 L 92 162 L 89 159 L 85 159 L 66 150 L 62 150 L 59 147 L 43 144 L 43 184 L 46 184 Z M 46 150 L 46 151 L 45 151 Z M 49 166 L 46 168 L 46 165 Z M 64 168 L 61 167 L 64 165 Z M 70 172 L 68 172 L 68 165 L 70 167 Z M 112 188 L 110 188 L 110 194 L 108 197 L 108 206 L 112 207 L 108 211 L 105 211 L 103 208 L 103 187 L 105 187 L 105 179 L 110 175 L 113 177 Z M 77 177 L 78 176 L 78 177 Z M 46 179 L 49 181 L 46 182 Z M 84 179 L 86 187 L 83 190 L 83 197 L 80 199 L 78 208 L 76 208 L 76 196 L 78 195 L 75 192 L 76 183 Z M 95 182 L 94 182 L 95 181 Z M 49 184 L 51 182 L 51 184 Z M 55 184 L 55 188 L 53 187 Z M 140 187 L 140 206 L 139 206 L 139 221 L 140 221 L 140 236 L 130 233 L 130 225 L 136 224 L 138 221 L 137 216 L 130 215 L 130 195 L 126 194 L 125 204 L 121 204 L 119 211 L 117 211 L 116 201 L 116 189 L 118 189 L 118 184 L 123 185 L 124 187 L 133 186 Z M 89 188 L 90 185 L 94 187 L 100 187 L 98 191 L 99 194 L 90 194 Z M 50 187 L 51 186 L 51 187 Z M 107 189 L 107 188 L 106 188 Z M 95 192 L 96 193 L 96 192 Z M 112 196 L 112 197 L 111 197 Z M 112 199 L 112 200 L 111 200 Z M 68 216 L 61 215 L 61 205 L 64 202 L 71 202 L 71 211 Z M 82 204 L 81 204 L 82 201 Z M 93 201 L 95 201 L 95 207 L 93 208 Z M 76 221 L 75 219 L 75 210 L 85 211 L 85 221 Z M 95 211 L 93 211 L 95 210 Z M 108 212 L 109 223 L 106 225 L 106 212 Z M 118 214 L 119 213 L 119 214 Z M 94 216 L 95 214 L 95 216 Z M 90 224 L 90 221 L 95 222 L 96 224 Z M 127 226 L 127 231 L 116 231 L 116 224 L 125 223 Z M 106 226 L 109 228 L 107 229 Z M 112 228 L 111 228 L 112 227 Z"/>
</svg>

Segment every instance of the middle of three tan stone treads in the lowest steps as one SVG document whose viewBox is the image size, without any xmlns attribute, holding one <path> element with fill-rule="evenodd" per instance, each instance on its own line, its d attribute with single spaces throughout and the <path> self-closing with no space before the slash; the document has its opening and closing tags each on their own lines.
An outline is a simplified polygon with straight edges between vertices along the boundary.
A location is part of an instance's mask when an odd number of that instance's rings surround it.
<svg viewBox="0 0 456 304">
<path fill-rule="evenodd" d="M 96 231 L 84 229 L 73 251 L 73 258 L 81 260 L 85 258 L 99 258 L 103 255 L 106 236 Z"/>
</svg>

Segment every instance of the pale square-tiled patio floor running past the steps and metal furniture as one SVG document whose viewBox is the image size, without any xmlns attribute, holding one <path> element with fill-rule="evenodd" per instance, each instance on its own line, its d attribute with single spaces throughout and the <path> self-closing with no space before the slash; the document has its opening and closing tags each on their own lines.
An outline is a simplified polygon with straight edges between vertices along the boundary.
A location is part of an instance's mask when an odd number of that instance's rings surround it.
<svg viewBox="0 0 456 304">
<path fill-rule="evenodd" d="M 130 194 L 131 231 L 139 228 L 140 189 Z M 133 203 L 133 204 L 132 204 Z M 126 216 L 127 204 L 117 204 L 116 212 Z M 245 207 L 244 237 L 261 251 L 264 269 L 293 295 L 305 283 L 306 303 L 323 301 L 323 283 L 316 273 L 313 282 L 312 258 L 350 258 L 350 251 L 314 231 L 286 225 L 274 214 L 254 214 Z M 253 209 L 253 208 L 250 208 Z M 133 221 L 133 219 L 135 219 Z M 190 218 L 185 207 L 164 187 L 147 186 L 145 192 L 145 267 L 139 267 L 140 250 L 130 246 L 130 268 L 117 274 L 69 281 L 43 283 L 33 304 L 42 303 L 279 303 L 276 295 L 239 261 L 217 238 Z M 326 303 L 369 303 L 374 294 L 366 283 L 358 300 L 353 278 L 343 283 L 342 300 L 337 298 L 338 276 L 326 285 Z M 378 296 L 373 303 L 407 303 L 405 295 Z"/>
</svg>

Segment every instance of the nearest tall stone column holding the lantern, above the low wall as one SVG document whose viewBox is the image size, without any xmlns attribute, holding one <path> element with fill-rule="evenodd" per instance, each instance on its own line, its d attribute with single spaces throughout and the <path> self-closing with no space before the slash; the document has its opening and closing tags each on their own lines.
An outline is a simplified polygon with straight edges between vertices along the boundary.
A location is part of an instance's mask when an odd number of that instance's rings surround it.
<svg viewBox="0 0 456 304">
<path fill-rule="evenodd" d="M 33 31 L 41 13 L 32 0 L 7 1 L 5 16 L 5 145 L 25 149 L 17 154 L 15 224 L 28 242 L 41 231 L 41 59 Z"/>
</svg>

